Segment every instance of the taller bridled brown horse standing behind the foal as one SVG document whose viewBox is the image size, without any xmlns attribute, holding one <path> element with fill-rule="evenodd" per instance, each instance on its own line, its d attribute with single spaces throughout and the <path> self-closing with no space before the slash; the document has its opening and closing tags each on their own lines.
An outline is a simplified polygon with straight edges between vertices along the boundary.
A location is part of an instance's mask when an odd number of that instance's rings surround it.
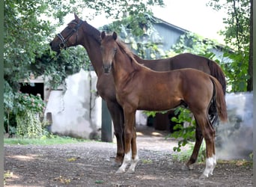
<svg viewBox="0 0 256 187">
<path fill-rule="evenodd" d="M 117 139 L 117 154 L 115 162 L 118 165 L 121 165 L 124 159 L 124 111 L 116 99 L 112 75 L 106 75 L 103 73 L 103 62 L 100 53 L 100 31 L 89 25 L 88 22 L 79 19 L 75 14 L 75 19 L 72 20 L 60 34 L 56 35 L 50 43 L 50 46 L 53 51 L 61 52 L 61 49 L 77 45 L 85 47 L 91 60 L 91 64 L 97 74 L 97 91 L 106 101 L 114 124 L 115 137 Z M 210 59 L 189 53 L 180 54 L 173 58 L 151 61 L 143 60 L 137 55 L 134 55 L 134 58 L 138 63 L 144 64 L 144 66 L 156 71 L 176 70 L 186 67 L 202 70 L 205 73 L 209 73 L 216 77 L 216 79 L 218 79 L 222 84 L 222 89 L 225 93 L 225 75 L 219 65 Z M 210 117 L 213 120 L 216 119 L 215 107 L 211 107 Z M 199 130 L 196 131 L 196 134 L 198 139 L 202 139 L 202 135 Z M 197 153 L 195 153 L 193 158 L 197 158 Z"/>
</svg>

